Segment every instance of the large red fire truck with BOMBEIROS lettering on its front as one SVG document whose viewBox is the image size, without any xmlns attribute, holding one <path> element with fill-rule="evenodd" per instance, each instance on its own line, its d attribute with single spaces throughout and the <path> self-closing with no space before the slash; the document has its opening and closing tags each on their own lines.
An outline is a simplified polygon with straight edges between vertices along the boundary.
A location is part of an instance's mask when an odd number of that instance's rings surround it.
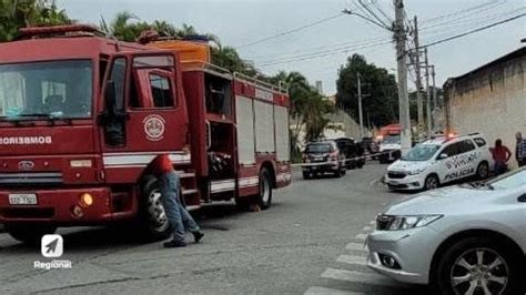
<svg viewBox="0 0 526 295">
<path fill-rule="evenodd" d="M 117 222 L 165 236 L 150 172 L 161 153 L 189 210 L 265 210 L 291 183 L 284 87 L 214 67 L 194 42 L 127 43 L 87 26 L 19 39 L 0 44 L 0 223 L 14 238 Z"/>
</svg>

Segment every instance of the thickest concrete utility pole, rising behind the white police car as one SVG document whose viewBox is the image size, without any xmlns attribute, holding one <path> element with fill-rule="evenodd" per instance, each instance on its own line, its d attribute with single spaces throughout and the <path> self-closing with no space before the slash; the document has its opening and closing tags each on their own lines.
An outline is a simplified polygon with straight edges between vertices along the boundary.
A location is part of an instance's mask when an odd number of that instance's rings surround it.
<svg viewBox="0 0 526 295">
<path fill-rule="evenodd" d="M 404 24 L 404 1 L 393 0 L 395 7 L 394 37 L 398 63 L 398 109 L 402 139 L 402 154 L 411 149 L 409 95 L 407 93 L 406 35 Z"/>
</svg>

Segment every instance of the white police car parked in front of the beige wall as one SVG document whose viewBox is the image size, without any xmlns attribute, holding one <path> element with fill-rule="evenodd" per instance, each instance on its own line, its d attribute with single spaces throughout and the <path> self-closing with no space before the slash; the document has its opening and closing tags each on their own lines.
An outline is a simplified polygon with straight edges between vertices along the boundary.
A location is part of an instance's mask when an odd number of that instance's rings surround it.
<svg viewBox="0 0 526 295">
<path fill-rule="evenodd" d="M 487 179 L 493 157 L 479 133 L 441 136 L 409 150 L 387 167 L 390 190 L 433 190 L 442 184 L 476 175 Z"/>
</svg>

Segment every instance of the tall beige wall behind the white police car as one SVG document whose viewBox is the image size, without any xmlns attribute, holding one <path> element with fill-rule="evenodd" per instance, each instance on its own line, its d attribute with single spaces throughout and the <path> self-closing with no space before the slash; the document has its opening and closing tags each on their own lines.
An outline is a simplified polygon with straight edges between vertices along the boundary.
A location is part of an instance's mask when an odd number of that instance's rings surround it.
<svg viewBox="0 0 526 295">
<path fill-rule="evenodd" d="M 453 80 L 445 94 L 448 129 L 482 132 L 492 145 L 502 139 L 515 159 L 515 133 L 526 135 L 525 69 L 523 55 Z"/>
</svg>

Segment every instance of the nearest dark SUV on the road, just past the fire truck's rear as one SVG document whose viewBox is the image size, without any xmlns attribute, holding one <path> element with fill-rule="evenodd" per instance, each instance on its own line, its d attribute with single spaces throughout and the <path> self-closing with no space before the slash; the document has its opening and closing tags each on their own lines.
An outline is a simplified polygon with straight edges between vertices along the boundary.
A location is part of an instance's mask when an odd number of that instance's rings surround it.
<svg viewBox="0 0 526 295">
<path fill-rule="evenodd" d="M 345 175 L 344 155 L 335 141 L 307 143 L 303 152 L 303 179 L 308 180 L 326 172 L 336 177 Z"/>
</svg>

